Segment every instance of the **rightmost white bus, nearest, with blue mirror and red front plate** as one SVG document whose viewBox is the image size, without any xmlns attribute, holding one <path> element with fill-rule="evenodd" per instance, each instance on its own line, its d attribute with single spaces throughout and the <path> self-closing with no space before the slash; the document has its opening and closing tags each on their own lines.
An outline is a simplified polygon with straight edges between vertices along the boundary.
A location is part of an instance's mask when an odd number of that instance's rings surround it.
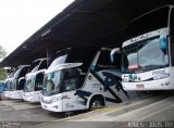
<svg viewBox="0 0 174 128">
<path fill-rule="evenodd" d="M 123 89 L 174 89 L 174 7 L 152 10 L 128 26 L 123 42 Z"/>
</svg>

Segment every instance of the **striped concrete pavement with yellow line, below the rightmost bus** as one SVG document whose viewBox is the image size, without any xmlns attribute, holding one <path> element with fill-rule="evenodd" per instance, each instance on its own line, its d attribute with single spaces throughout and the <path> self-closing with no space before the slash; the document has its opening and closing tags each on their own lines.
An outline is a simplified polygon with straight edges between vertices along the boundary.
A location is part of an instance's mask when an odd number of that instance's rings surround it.
<svg viewBox="0 0 174 128">
<path fill-rule="evenodd" d="M 174 128 L 174 94 L 139 98 L 35 128 Z"/>
</svg>

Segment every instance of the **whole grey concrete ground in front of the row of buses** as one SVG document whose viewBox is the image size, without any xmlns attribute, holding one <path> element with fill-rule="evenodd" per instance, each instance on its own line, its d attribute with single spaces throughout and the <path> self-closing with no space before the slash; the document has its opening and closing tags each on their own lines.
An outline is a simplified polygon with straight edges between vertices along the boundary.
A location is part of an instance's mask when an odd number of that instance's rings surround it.
<svg viewBox="0 0 174 128">
<path fill-rule="evenodd" d="M 39 104 L 2 100 L 0 120 L 3 121 L 1 125 L 18 123 L 21 128 L 174 128 L 174 93 L 138 98 L 66 118 L 42 110 Z"/>
</svg>

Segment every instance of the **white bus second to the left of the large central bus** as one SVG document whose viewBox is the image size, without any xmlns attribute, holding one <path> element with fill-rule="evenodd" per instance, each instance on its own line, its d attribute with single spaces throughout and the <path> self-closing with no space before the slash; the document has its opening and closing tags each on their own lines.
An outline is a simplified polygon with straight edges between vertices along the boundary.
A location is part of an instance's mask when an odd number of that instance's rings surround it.
<svg viewBox="0 0 174 128">
<path fill-rule="evenodd" d="M 29 65 L 21 65 L 16 68 L 13 77 L 11 78 L 11 86 L 9 91 L 10 99 L 23 99 L 23 89 L 25 84 L 25 75 L 29 69 Z"/>
</svg>

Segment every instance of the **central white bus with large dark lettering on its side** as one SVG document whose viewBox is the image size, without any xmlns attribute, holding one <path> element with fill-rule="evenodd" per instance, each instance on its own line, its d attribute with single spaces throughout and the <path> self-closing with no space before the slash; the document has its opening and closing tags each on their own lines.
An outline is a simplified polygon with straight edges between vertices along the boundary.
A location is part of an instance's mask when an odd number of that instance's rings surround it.
<svg viewBox="0 0 174 128">
<path fill-rule="evenodd" d="M 96 51 L 71 49 L 51 63 L 45 73 L 40 100 L 44 110 L 88 110 L 127 100 L 121 86 L 121 60 L 117 57 L 116 66 L 110 61 L 110 49 Z"/>
</svg>

